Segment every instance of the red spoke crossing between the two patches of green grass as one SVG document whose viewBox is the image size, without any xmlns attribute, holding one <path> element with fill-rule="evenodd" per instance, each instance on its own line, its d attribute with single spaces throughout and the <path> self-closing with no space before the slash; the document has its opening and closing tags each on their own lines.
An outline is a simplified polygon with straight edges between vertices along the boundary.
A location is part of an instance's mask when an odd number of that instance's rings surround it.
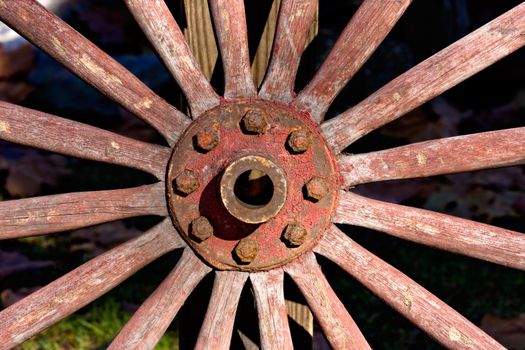
<svg viewBox="0 0 525 350">
<path fill-rule="evenodd" d="M 193 289 L 211 271 L 189 248 L 177 266 L 146 299 L 108 349 L 155 348 Z"/>
</svg>

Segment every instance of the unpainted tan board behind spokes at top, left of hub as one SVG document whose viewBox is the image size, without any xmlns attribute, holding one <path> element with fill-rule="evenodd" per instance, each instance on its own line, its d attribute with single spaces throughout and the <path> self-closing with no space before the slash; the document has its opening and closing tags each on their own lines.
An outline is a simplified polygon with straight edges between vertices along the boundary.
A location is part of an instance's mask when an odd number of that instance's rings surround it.
<svg viewBox="0 0 525 350">
<path fill-rule="evenodd" d="M 219 52 L 215 42 L 208 0 L 184 0 L 184 36 L 206 79 L 211 80 Z"/>
</svg>

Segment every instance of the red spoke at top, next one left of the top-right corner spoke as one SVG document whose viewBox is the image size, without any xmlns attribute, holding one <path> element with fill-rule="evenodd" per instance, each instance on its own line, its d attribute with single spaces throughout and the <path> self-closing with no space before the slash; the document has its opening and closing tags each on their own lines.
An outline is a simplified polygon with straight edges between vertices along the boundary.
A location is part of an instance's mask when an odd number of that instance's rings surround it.
<svg viewBox="0 0 525 350">
<path fill-rule="evenodd" d="M 412 0 L 365 0 L 293 104 L 321 121 L 332 101 L 392 30 Z"/>
</svg>

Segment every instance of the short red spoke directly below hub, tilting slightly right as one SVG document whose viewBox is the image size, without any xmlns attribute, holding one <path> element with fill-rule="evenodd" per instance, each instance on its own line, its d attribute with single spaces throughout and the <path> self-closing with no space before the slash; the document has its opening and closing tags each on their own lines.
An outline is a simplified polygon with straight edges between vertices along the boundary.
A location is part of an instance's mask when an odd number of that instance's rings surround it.
<svg viewBox="0 0 525 350">
<path fill-rule="evenodd" d="M 257 305 L 261 349 L 292 350 L 292 336 L 284 301 L 282 269 L 250 274 Z"/>
</svg>

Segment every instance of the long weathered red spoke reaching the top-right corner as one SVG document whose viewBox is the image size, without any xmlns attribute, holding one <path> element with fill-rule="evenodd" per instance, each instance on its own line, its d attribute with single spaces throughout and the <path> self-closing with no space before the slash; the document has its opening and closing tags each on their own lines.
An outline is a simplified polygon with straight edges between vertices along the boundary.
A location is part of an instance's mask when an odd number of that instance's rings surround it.
<svg viewBox="0 0 525 350">
<path fill-rule="evenodd" d="M 400 75 L 323 124 L 335 152 L 440 95 L 525 45 L 525 3 Z"/>
</svg>

